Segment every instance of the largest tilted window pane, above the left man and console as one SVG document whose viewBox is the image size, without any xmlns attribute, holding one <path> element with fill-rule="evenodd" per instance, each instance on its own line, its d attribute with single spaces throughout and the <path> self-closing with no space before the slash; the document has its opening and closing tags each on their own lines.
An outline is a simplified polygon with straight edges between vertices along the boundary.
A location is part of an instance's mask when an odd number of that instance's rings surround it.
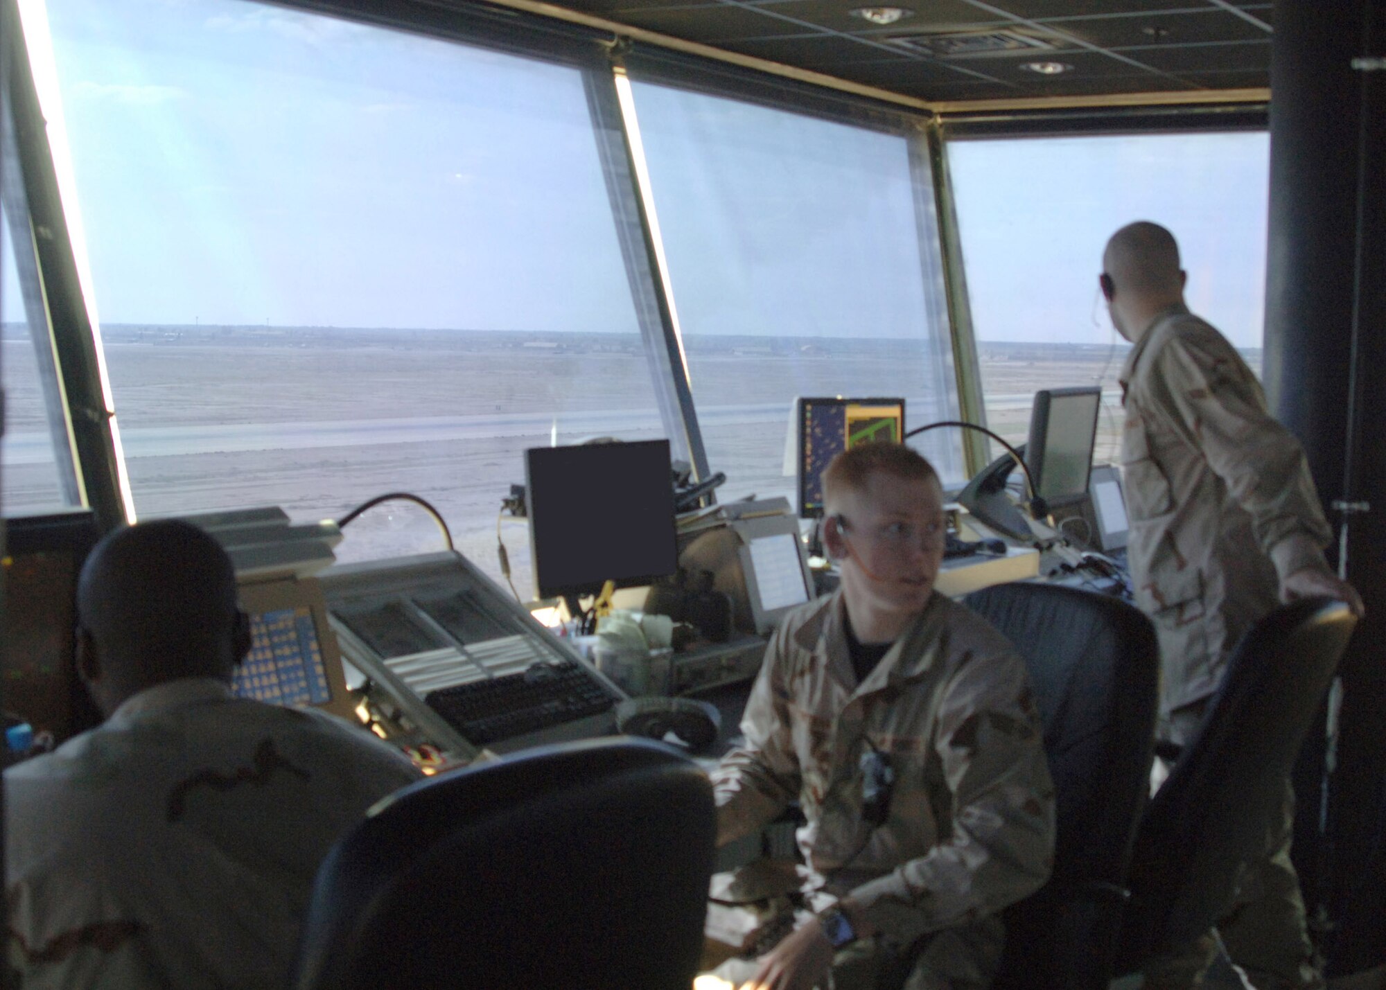
<svg viewBox="0 0 1386 990">
<path fill-rule="evenodd" d="M 402 488 L 496 573 L 524 448 L 664 435 L 578 69 L 244 0 L 49 10 L 141 514 Z M 437 546 L 403 506 L 338 555 Z"/>
</svg>

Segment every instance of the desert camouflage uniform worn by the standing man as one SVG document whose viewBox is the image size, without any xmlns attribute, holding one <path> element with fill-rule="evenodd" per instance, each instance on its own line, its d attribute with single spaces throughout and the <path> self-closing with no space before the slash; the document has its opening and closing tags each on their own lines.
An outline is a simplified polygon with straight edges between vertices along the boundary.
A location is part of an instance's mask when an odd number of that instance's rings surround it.
<svg viewBox="0 0 1386 990">
<path fill-rule="evenodd" d="M 1299 441 L 1271 417 L 1232 345 L 1184 305 L 1157 316 L 1135 344 L 1121 385 L 1127 555 L 1137 605 L 1160 639 L 1161 732 L 1182 743 L 1236 641 L 1278 605 L 1281 580 L 1326 567 L 1321 548 L 1332 532 Z M 1318 984 L 1304 968 L 1292 825 L 1286 783 L 1270 860 L 1218 926 L 1261 989 Z"/>
</svg>

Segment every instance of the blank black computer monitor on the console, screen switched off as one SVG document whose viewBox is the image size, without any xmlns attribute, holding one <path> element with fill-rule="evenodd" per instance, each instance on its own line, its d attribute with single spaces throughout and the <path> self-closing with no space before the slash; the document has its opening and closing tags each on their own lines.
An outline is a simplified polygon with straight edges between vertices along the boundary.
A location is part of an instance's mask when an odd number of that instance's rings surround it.
<svg viewBox="0 0 1386 990">
<path fill-rule="evenodd" d="M 678 570 L 669 442 L 525 451 L 525 502 L 539 598 L 650 584 Z"/>
</svg>

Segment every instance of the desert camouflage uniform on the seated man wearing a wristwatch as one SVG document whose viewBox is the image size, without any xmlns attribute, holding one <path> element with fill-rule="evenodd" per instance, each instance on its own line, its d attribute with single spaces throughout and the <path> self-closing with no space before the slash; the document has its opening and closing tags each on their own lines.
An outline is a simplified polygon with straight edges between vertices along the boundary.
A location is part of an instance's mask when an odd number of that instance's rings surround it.
<svg viewBox="0 0 1386 990">
<path fill-rule="evenodd" d="M 880 932 L 839 954 L 837 986 L 869 986 L 845 978 L 879 948 L 918 954 L 912 990 L 984 987 L 1001 954 L 997 912 L 1053 865 L 1053 785 L 1024 666 L 981 617 L 934 593 L 858 685 L 844 617 L 839 592 L 793 611 L 771 641 L 746 747 L 714 775 L 718 839 L 797 797 L 804 890 L 815 907 L 851 894 Z M 861 815 L 868 739 L 895 771 L 879 828 Z"/>
</svg>

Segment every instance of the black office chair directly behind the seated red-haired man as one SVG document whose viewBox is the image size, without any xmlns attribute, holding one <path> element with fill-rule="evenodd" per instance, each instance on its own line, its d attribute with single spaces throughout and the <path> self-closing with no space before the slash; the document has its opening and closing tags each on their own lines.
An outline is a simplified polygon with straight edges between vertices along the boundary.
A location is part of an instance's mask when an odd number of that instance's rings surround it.
<svg viewBox="0 0 1386 990">
<path fill-rule="evenodd" d="M 1155 628 L 1125 602 L 1058 585 L 997 585 L 965 602 L 1026 660 L 1058 806 L 1053 874 L 1005 911 L 1006 950 L 992 986 L 1106 990 L 1149 790 Z"/>
</svg>

